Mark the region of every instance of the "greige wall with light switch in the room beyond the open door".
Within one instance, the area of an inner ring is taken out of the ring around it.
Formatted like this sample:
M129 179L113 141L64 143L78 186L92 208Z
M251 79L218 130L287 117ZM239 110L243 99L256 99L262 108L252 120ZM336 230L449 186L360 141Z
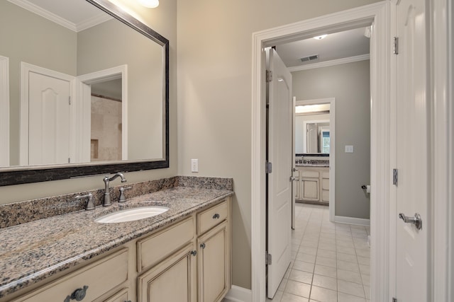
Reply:
M369 74L369 60L292 73L297 100L336 98L336 216L370 217Z

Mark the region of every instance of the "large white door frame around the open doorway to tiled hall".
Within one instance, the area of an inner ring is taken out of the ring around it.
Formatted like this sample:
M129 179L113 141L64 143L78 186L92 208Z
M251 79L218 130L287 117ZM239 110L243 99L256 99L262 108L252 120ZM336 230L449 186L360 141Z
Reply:
M389 59L390 4L376 4L253 33L251 146L252 301L265 301L265 62L263 47L284 41L372 26L371 63L371 291L375 301L389 301Z

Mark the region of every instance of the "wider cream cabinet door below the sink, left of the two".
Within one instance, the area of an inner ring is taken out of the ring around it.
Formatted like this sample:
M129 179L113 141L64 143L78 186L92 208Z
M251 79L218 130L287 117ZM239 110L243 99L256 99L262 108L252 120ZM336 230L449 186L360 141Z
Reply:
M195 302L196 257L193 244L138 277L138 302Z

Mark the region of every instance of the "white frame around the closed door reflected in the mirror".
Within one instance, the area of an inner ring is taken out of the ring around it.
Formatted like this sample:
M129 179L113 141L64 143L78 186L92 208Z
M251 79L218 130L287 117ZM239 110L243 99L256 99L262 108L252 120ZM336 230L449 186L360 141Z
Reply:
M26 62L21 62L21 110L20 110L20 139L19 139L19 165L28 165L28 90L29 74L34 72L43 76L50 76L55 79L70 82L70 98L74 99L75 80L74 76L62 74L61 72L36 66ZM77 125L75 124L76 110L70 106L70 158L75 158L74 141Z

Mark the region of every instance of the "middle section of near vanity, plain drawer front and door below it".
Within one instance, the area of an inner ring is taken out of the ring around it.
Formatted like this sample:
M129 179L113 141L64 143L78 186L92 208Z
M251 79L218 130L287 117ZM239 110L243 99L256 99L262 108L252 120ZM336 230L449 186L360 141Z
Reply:
M138 240L138 302L196 301L194 220Z

